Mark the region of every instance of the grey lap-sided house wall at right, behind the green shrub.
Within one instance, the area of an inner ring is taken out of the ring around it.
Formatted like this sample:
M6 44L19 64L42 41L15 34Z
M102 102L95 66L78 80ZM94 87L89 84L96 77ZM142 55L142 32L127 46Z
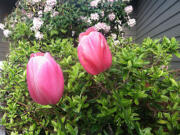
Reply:
M146 37L175 37L180 41L180 0L137 0L136 42ZM180 68L174 56L171 68Z

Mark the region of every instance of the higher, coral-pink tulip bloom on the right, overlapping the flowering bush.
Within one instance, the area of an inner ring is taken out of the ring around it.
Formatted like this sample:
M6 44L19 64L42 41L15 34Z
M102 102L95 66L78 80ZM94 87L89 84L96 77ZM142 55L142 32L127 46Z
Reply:
M107 41L94 27L80 34L78 57L84 69L92 75L104 72L112 64L111 51Z

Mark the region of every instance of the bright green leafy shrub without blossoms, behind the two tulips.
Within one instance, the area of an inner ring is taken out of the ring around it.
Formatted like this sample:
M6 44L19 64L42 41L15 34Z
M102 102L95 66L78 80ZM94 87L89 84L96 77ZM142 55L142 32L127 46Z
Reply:
M134 44L119 39L112 67L91 76L80 65L71 39L49 44L18 41L11 45L0 78L2 124L17 135L177 135L180 133L180 83L167 70L178 43L172 38ZM64 95L56 106L29 96L26 64L31 53L50 52L60 64Z

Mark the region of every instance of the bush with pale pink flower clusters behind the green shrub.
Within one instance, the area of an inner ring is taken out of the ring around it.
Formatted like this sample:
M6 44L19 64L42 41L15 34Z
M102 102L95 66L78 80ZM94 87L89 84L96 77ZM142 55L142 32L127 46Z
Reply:
M133 8L128 5L122 0L19 0L0 29L13 40L73 38L76 42L90 26L106 36L122 35L122 27L136 23L130 18Z

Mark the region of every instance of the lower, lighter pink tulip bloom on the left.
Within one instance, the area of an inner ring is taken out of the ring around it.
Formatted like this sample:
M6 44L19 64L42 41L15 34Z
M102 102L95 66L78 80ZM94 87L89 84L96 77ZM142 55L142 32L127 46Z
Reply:
M49 53L31 54L27 64L27 84L35 102L42 105L58 103L64 92L64 77Z

